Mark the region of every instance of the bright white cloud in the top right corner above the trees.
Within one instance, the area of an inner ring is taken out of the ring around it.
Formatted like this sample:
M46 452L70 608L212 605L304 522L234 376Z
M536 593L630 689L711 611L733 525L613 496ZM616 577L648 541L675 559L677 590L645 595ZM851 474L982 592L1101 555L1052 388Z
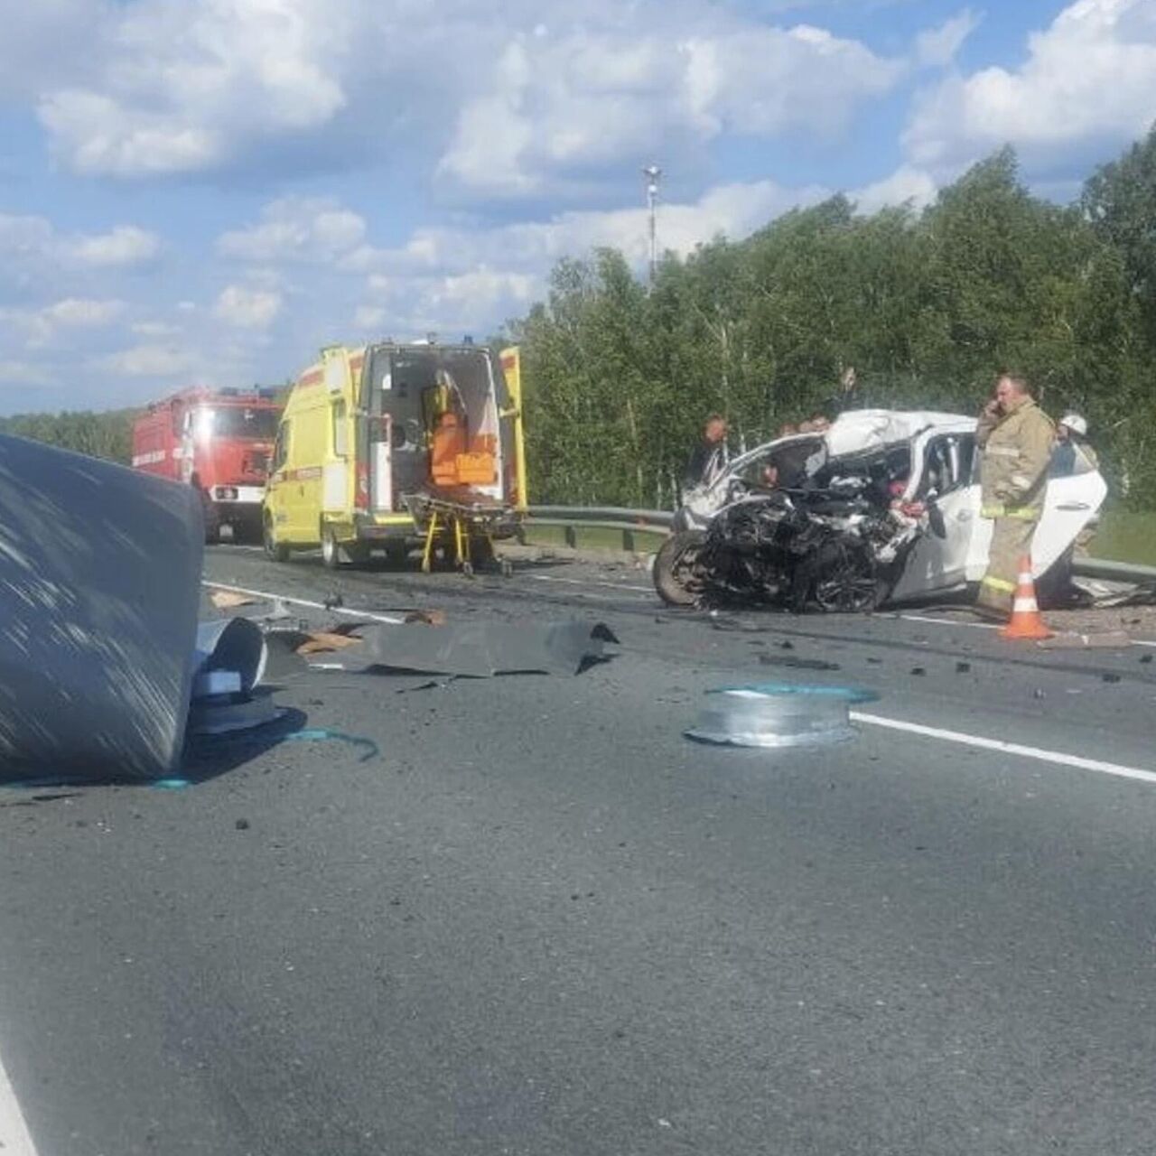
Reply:
M1156 118L1156 5L1077 0L1028 42L1017 69L954 76L919 102L910 158L951 171L1010 142L1029 165L1070 163L1141 135Z

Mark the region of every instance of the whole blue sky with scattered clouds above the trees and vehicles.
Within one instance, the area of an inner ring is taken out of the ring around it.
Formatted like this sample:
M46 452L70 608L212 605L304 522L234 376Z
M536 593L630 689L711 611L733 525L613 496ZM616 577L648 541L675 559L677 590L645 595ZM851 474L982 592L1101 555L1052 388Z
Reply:
M0 414L484 335L561 255L1042 194L1156 120L1156 0L0 0Z

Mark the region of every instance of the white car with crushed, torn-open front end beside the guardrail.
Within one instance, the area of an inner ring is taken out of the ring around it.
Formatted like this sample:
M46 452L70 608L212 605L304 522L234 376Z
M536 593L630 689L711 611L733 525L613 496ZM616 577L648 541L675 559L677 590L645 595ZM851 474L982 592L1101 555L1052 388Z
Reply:
M1048 481L1037 577L1107 494L1097 470ZM728 601L861 612L978 583L993 524L979 517L976 418L864 409L823 433L761 445L687 497L654 560L672 606Z

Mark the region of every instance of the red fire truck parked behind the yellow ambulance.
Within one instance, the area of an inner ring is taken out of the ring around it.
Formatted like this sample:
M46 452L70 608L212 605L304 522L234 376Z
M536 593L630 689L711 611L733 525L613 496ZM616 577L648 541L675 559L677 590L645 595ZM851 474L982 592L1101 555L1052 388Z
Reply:
M216 541L222 526L234 538L260 536L277 392L181 390L136 418L133 466L201 491L206 541Z

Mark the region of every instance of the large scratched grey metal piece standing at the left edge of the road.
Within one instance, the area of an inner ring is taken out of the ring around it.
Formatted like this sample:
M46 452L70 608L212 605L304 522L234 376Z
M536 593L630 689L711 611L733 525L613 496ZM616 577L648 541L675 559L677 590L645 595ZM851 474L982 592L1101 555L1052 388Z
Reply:
M0 435L0 777L170 773L195 668L197 492Z

